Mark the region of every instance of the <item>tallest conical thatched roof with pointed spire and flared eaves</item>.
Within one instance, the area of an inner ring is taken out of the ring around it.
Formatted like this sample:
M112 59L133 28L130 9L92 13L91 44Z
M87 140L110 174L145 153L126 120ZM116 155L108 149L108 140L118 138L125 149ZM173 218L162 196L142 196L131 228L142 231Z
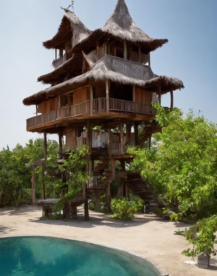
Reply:
M149 51L154 51L168 42L168 39L153 39L145 34L133 21L124 0L118 0L113 14L108 18L105 26L93 31L78 43L73 51L83 50L88 53L96 47L96 40L101 38L103 34L126 40L128 43L141 45Z

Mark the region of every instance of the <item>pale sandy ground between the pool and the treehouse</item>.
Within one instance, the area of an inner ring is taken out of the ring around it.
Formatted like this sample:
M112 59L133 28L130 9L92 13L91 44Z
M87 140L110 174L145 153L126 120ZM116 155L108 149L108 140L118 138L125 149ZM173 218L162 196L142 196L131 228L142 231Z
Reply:
M31 234L88 241L142 255L158 265L163 275L217 275L216 258L211 258L212 266L208 270L184 263L191 260L181 254L188 242L185 237L174 235L174 231L184 230L187 224L143 214L131 221L121 221L92 211L89 212L90 220L84 221L83 211L80 207L77 221L41 221L41 207L0 209L0 237Z

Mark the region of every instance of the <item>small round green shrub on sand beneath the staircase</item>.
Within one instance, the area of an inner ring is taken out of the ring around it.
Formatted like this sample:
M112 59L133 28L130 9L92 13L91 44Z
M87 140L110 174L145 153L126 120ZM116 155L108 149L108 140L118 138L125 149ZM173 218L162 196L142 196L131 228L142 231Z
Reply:
M135 206L131 202L126 201L125 197L122 199L113 199L111 209L114 212L112 217L124 220L131 219L136 212Z

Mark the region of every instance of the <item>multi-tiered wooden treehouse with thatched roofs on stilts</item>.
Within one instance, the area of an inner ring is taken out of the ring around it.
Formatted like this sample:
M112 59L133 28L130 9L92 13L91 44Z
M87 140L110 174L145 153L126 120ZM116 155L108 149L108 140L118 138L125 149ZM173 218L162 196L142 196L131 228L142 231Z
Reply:
M88 219L88 199L93 192L98 206L100 191L105 191L109 210L114 179L119 179L119 196L128 199L132 189L144 202L161 205L138 173L125 170L125 162L131 160L125 148L150 142L151 135L160 131L151 103L161 104L162 95L170 92L173 108L173 91L184 87L181 80L155 75L150 67L150 53L168 39L145 34L124 0L118 0L105 26L94 31L70 10L64 12L57 34L43 43L45 48L55 49L54 70L38 81L51 87L23 100L24 105L36 106L36 116L27 119L27 131L44 133L45 148L47 133L59 135L60 163L66 156L62 136L67 152L83 144L90 148L92 165L87 170L93 172L93 178L65 205L64 217L76 218L77 206L84 203ZM140 140L138 125L146 126ZM101 128L96 130L96 126ZM95 160L99 161L96 166ZM116 160L122 171L115 170Z

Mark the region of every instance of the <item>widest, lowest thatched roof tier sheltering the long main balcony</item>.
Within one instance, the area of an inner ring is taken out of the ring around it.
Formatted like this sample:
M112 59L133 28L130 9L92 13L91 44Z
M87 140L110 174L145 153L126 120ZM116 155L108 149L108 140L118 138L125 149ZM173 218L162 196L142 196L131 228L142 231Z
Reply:
M170 91L170 88L173 90L184 88L180 79L155 75L147 65L105 55L85 74L29 96L23 100L23 104L32 105L49 96L68 93L88 83L104 82L106 79L123 85L135 85L154 92L158 91L158 85L161 84L162 94Z

